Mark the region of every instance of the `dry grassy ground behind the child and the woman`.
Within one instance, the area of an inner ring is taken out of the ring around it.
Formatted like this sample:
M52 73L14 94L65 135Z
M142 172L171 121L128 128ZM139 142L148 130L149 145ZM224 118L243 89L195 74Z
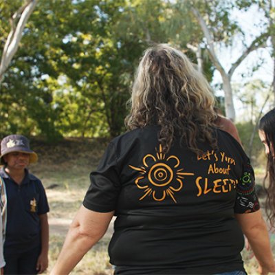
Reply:
M39 162L30 166L34 175L43 181L50 203L49 218L73 219L81 206L89 187L89 173L96 169L107 140L67 140L56 145L34 142L33 149L39 154ZM256 181L261 184L265 168L256 167ZM55 186L51 188L51 186ZM106 234L92 248L71 274L111 275L107 246L111 238ZM49 274L63 246L65 234L51 234ZM272 250L275 252L275 235L271 236ZM243 250L243 260L248 274L258 274L256 259L250 251Z

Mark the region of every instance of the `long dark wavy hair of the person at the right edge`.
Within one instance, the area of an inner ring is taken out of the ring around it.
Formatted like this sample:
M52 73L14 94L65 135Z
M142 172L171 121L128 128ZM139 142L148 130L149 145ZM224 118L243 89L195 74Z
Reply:
M267 189L265 211L271 225L275 228L275 108L261 118L259 130L265 135L265 144L268 147L267 169L264 185ZM268 177L268 185L266 179Z

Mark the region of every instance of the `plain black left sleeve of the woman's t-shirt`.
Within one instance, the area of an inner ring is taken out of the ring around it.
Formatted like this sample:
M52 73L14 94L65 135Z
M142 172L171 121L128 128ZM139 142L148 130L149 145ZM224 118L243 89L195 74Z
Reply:
M107 147L98 168L90 174L91 184L85 195L83 206L96 212L115 210L120 191L118 160L115 145Z

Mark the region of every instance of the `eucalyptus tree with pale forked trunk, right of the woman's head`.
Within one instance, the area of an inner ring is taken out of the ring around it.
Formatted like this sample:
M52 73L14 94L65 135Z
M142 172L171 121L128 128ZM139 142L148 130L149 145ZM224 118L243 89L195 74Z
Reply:
M234 120L235 109L232 98L232 75L250 52L265 46L267 32L263 31L261 35L255 37L250 45L244 45L243 52L236 57L235 61L232 61L230 69L225 69L225 66L222 65L218 57L217 47L233 48L235 39L244 40L245 35L237 21L232 19L231 16L237 7L236 1L178 0L174 2L175 8L180 10L181 16L185 19L182 28L190 32L189 47L195 49L195 52L197 51L197 57L201 56L199 54L200 50L205 49L212 64L221 74L225 94L225 113L228 118Z

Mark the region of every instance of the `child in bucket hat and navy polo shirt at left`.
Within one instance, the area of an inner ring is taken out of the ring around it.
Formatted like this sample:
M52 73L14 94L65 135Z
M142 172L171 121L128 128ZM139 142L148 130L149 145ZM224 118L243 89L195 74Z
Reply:
M49 206L40 179L27 169L37 155L26 137L8 135L0 161L4 274L41 274L48 265Z

